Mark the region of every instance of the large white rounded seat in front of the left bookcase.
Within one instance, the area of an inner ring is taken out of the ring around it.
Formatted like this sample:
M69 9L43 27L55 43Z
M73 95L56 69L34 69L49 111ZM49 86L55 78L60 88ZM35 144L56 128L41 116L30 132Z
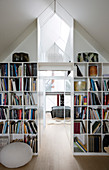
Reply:
M27 164L33 156L29 145L22 142L10 143L0 152L0 162L7 168L18 168Z

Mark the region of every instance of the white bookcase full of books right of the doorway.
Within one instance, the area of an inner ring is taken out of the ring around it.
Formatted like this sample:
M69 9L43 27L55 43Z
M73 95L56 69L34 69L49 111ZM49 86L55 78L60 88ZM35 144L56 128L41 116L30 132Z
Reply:
M104 151L109 145L108 67L102 62L74 63L74 155L109 155Z

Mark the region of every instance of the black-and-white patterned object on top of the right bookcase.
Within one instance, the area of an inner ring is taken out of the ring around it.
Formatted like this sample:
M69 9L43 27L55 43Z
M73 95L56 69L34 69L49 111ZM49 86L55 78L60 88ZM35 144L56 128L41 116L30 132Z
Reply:
M93 52L78 53L78 62L98 62L98 54Z

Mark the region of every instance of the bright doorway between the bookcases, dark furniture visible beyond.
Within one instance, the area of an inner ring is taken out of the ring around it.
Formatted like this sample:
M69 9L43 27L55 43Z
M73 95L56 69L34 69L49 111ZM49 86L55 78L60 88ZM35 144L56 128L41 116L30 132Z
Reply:
M71 139L71 115L72 115L72 71L47 70L43 67L39 77L42 82L42 122L46 125L63 125L66 129L69 141ZM53 68L53 67L52 67ZM67 68L68 69L68 68ZM41 86L41 85L40 85Z

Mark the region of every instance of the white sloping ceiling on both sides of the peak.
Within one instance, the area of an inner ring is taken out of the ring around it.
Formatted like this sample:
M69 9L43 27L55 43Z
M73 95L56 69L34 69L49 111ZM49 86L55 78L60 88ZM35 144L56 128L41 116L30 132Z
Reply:
M0 0L0 55L52 0ZM109 0L58 0L109 53Z

